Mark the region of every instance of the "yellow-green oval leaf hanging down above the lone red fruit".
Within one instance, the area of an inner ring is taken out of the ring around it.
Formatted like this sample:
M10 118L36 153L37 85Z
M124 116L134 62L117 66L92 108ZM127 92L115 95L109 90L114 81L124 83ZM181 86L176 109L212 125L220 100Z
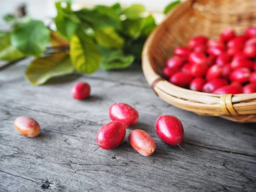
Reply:
M98 70L101 61L96 45L85 33L78 33L71 37L70 58L76 70L85 73Z

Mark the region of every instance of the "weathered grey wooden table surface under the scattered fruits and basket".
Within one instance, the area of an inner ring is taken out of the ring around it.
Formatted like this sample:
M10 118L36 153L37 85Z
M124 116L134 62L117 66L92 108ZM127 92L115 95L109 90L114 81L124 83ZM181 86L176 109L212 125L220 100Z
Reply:
M33 86L24 78L29 60L0 72L0 191L256 191L256 124L198 116L175 108L151 90L140 65L120 71L71 75ZM91 85L91 96L73 99L78 81ZM134 106L137 125L128 128L114 150L96 143L99 128L109 122L115 102ZM182 147L163 143L154 131L158 116L170 114L183 123ZM41 125L35 138L13 126L18 116ZM132 129L147 131L156 142L150 157L128 143Z

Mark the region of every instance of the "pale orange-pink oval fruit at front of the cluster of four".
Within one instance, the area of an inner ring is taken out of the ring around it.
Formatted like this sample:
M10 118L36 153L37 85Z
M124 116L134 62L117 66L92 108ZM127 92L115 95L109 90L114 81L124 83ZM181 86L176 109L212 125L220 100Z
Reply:
M153 138L145 131L135 129L129 134L131 146L140 154L150 156L156 150Z

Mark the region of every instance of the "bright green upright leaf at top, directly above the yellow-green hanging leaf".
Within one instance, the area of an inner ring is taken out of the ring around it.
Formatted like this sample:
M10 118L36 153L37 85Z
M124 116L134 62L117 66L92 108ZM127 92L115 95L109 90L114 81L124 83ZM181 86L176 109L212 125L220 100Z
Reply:
M70 3L67 3L67 7L63 8L61 6L61 2L57 2L55 3L55 7L58 12L55 17L57 30L64 35L65 38L70 39L70 37L75 33L80 20L72 12Z

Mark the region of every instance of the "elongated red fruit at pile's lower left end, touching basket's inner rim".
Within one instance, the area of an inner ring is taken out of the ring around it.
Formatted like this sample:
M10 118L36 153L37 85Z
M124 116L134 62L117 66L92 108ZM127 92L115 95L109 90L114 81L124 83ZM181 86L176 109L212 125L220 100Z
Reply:
M193 79L193 76L190 73L185 73L185 72L178 72L175 73L171 78L170 82L172 84L175 84L180 87L185 87L188 85Z

